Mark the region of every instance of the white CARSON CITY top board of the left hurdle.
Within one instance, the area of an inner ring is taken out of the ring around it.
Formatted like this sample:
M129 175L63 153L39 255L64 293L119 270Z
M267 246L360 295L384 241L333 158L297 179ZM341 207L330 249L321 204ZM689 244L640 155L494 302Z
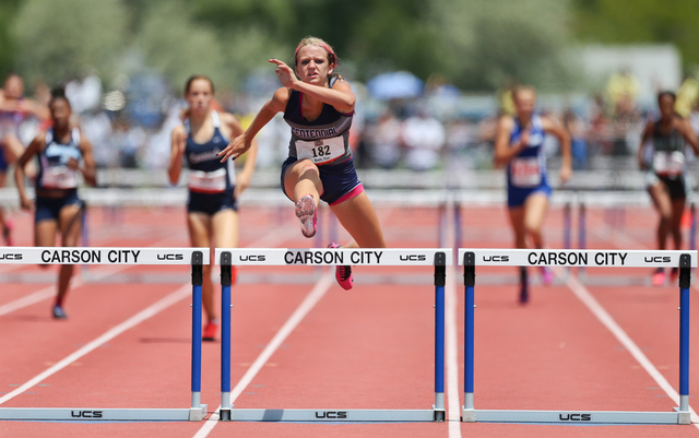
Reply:
M194 251L201 251L202 264L211 262L209 248L2 247L0 263L191 264Z

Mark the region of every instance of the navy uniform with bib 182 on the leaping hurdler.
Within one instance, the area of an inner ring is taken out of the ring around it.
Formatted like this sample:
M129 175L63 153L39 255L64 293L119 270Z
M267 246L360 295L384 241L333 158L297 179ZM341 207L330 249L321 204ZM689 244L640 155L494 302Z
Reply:
M332 78L329 87L337 79ZM350 149L350 127L354 111L343 114L332 105L323 104L323 109L315 120L307 120L303 114L304 94L292 90L284 120L292 127L288 158L282 165L282 190L286 169L299 159L310 159L318 166L323 192L320 199L329 204L337 204L364 191L357 178ZM287 198L289 193L285 193ZM292 193L293 194L293 193Z

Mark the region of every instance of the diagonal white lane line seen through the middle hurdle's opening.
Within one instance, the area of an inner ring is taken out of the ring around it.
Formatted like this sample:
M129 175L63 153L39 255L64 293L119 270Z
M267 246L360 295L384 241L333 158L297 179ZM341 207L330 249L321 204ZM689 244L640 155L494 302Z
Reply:
M272 338L272 341L264 347L262 353L254 359L252 366L248 368L248 371L242 376L242 378L235 386L233 391L230 391L230 404L235 402L235 400L242 393L242 391L250 384L252 379L257 376L257 374L262 369L264 364L269 360L270 357L276 352L276 350L284 343L286 338L296 329L296 327L301 322L301 320L308 315L308 312L316 306L316 304L320 300L320 298L325 295L325 292L330 288L333 282L333 275L330 271L325 271L323 275L318 280L316 286L312 291L306 296L304 301L296 308L294 313L286 320L284 325L280 329L279 332ZM204 425L194 434L194 438L205 438L209 436L211 430L216 426L220 419L221 405L216 409L216 412L211 414L209 419L204 422Z

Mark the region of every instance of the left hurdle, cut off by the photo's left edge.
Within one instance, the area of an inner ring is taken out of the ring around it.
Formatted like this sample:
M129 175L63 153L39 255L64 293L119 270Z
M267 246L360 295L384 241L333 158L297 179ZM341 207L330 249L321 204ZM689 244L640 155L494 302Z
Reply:
M1 262L12 264L190 264L192 271L192 353L191 407L189 409L0 407L0 419L199 422L204 418L206 405L201 404L201 299L203 264L211 262L209 248L8 247L2 252Z

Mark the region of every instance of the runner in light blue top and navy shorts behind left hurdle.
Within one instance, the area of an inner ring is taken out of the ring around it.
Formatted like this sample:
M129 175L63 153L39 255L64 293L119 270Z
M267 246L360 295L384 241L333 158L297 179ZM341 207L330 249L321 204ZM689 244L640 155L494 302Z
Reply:
M92 144L81 135L80 129L70 122L71 108L62 90L55 91L49 102L52 127L37 135L24 151L14 169L14 181L20 192L23 210L34 211L34 239L37 247L56 245L56 233L61 234L61 246L78 246L82 229L83 202L78 197L81 176L95 185L95 161ZM24 187L24 168L38 156L36 201L32 202ZM44 265L48 267L48 265ZM72 264L61 264L58 275L58 294L52 307L54 318L64 319L63 304Z

